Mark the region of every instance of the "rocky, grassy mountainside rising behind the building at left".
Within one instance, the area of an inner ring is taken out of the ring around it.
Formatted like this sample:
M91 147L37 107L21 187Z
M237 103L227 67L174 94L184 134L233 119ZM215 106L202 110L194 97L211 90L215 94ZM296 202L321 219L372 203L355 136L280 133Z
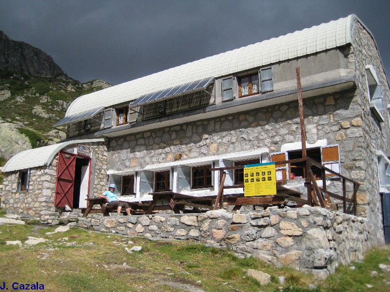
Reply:
M0 158L59 142L65 128L53 129L78 96L111 84L68 77L52 57L0 32Z

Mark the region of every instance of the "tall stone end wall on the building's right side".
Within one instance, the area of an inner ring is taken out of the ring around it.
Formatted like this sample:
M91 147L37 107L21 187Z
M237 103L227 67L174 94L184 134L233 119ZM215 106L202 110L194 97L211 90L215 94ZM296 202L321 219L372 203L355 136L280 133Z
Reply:
M358 206L358 212L370 219L374 230L376 230L373 236L377 237L379 242L383 242L382 207L375 150L382 150L386 154L389 149L390 124L387 110L387 105L390 104L389 83L373 38L357 21L353 30L352 49L353 52L351 55L353 55L358 80L356 91L358 103L361 105L362 120L364 121L361 130L365 145L364 151L356 154L361 156L358 163L362 165L364 170L355 177L365 183L359 190L367 194L365 197L360 197L360 203L363 204ZM366 65L372 65L374 67L382 86L382 96L385 105L385 110L381 111L385 120L383 123L377 121L369 107Z

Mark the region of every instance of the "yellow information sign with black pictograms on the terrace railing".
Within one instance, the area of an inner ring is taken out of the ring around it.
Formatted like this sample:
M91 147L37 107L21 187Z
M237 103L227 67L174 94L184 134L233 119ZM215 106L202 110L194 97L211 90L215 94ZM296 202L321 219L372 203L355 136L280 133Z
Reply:
M244 197L276 195L275 163L244 166Z

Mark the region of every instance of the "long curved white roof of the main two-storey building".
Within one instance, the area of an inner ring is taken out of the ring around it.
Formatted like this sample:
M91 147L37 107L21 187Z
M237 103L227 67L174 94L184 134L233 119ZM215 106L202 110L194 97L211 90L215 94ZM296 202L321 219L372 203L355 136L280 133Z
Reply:
M65 116L128 102L194 80L229 75L351 43L355 18L350 15L82 95L72 102Z

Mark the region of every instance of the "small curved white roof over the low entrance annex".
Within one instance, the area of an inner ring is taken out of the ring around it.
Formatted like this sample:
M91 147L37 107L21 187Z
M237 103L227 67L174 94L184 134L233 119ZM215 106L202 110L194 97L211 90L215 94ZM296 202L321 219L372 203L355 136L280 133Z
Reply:
M59 152L59 150L72 144L91 143L91 142L103 142L104 139L88 139L88 140L74 140L54 144L50 146L44 146L29 150L24 150L15 156L13 156L4 165L2 172L10 172L21 169L28 169L43 165L49 165L53 160L53 157Z

